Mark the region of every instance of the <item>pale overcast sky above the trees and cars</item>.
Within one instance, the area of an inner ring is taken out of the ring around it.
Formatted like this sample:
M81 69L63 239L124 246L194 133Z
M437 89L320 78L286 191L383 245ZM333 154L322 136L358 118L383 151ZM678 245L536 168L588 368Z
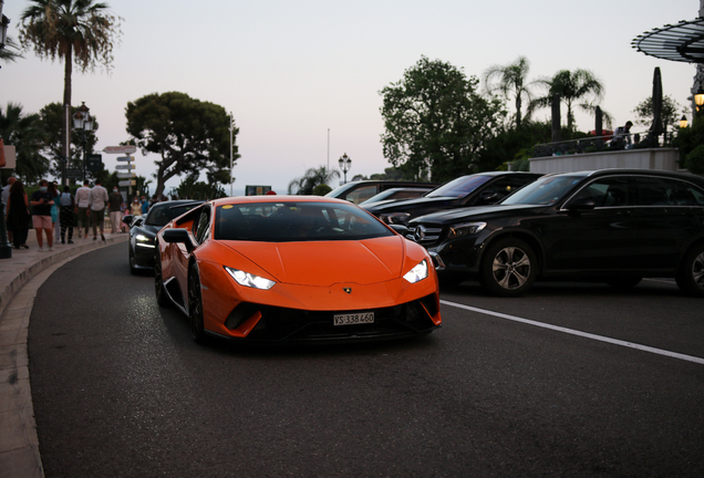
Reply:
M82 74L74 67L73 74L74 106L85 102L101 124L96 149L128 139L127 102L184 92L232 112L241 154L235 194L246 185L284 193L307 168L327 165L328 158L337 167L343 153L352 159L349 178L383 173L390 165L380 143L379 91L400 81L422 55L476 76L519 55L530 61L529 79L590 70L605 86L602 108L620 125L651 95L660 66L664 94L689 105L694 65L646 56L631 41L692 20L700 7L697 0L106 2L124 19L113 72ZM14 39L28 6L4 2ZM62 97L62 63L40 61L31 51L2 63L3 108L13 102L33 113ZM543 110L537 117L548 115ZM577 123L593 129L590 116L578 113ZM103 155L110 170L115 157ZM137 153L136 173L151 178L154 159ZM172 179L167 191L179 183Z

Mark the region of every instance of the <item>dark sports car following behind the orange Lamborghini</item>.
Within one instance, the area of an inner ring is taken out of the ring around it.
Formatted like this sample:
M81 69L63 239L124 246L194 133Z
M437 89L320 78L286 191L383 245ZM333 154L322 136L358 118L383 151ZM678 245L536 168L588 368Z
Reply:
M156 233L172 219L203 204L194 200L157 202L146 216L125 216L122 221L130 226L130 271L154 269L154 239Z

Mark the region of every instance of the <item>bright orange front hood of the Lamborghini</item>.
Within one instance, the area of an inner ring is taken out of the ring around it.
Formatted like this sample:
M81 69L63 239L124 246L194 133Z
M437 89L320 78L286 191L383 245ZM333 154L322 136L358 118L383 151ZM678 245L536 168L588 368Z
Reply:
M280 282L330 287L397 279L404 264L403 241L401 236L392 236L359 241L222 243Z

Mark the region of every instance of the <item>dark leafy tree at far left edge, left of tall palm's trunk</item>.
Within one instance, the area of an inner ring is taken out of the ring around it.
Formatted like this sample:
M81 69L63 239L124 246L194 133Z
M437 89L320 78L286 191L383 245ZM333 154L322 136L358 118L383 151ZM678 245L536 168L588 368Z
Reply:
M0 107L0 135L6 145L15 148L14 173L27 184L34 184L49 172L49 159L42 156L44 128L39 114L23 114L22 105L8 103Z

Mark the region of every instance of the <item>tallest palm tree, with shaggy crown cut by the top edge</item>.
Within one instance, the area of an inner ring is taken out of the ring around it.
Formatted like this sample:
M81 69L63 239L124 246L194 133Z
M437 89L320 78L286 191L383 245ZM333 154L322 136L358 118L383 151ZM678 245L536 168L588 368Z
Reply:
M122 19L108 13L107 3L93 0L30 0L30 3L22 13L20 43L25 50L33 46L42 59L54 61L58 56L64 61L63 104L70 105L73 63L82 72L93 71L97 64L110 72L113 45L122 34ZM63 137L66 152L65 132Z

